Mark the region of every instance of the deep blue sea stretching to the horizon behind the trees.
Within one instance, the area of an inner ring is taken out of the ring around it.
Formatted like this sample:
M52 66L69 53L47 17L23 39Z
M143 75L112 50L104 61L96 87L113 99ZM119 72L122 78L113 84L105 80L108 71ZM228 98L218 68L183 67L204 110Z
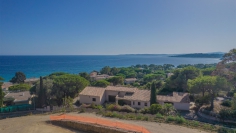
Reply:
M104 66L128 67L136 64L210 64L215 58L178 58L169 55L76 55L76 56L0 56L0 76L9 81L21 71L27 78L46 76L53 72L78 74L100 70Z

